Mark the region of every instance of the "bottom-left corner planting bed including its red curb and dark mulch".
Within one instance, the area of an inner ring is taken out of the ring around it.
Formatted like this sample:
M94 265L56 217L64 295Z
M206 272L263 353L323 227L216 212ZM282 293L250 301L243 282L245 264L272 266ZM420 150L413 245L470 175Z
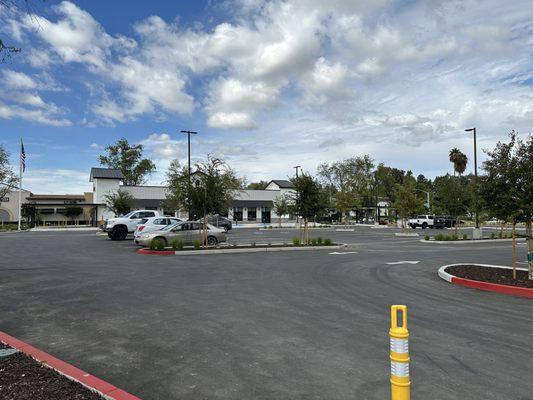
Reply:
M140 400L1 331L0 398Z

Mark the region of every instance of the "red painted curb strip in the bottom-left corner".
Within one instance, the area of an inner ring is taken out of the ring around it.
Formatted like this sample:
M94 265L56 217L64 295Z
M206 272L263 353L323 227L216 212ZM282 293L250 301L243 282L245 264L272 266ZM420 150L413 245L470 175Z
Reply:
M141 400L139 397L129 394L124 390L119 389L116 386L101 380L100 378L97 378L94 375L82 371L81 369L76 368L69 363L61 361L60 359L55 358L33 346L30 346L29 344L24 343L22 340L10 336L2 331L0 331L0 341L13 347L14 349L20 350L30 357L35 358L37 361L48 365L50 368L55 369L60 374L65 375L74 381L80 382L81 384L100 393L102 396L110 400Z

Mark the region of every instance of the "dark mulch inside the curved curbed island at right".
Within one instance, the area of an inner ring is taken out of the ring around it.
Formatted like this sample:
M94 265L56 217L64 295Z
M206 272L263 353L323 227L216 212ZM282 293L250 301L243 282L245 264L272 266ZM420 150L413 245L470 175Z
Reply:
M528 279L527 271L517 270L517 279L513 279L512 269L480 267L479 265L455 265L446 268L446 272L458 278L473 281L533 289L533 281Z

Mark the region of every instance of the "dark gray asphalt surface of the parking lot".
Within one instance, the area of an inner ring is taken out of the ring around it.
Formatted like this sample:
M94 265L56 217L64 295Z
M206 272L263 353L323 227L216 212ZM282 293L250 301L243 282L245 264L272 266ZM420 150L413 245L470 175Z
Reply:
M413 398L532 399L533 302L437 276L509 265L510 243L395 231L312 232L343 251L180 257L89 232L0 234L0 330L145 400L377 400L389 397L389 307L407 304Z

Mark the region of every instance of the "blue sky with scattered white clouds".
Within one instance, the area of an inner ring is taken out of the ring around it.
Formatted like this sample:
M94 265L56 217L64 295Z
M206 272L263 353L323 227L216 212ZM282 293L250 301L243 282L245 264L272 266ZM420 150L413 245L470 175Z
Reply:
M214 154L249 182L369 154L452 172L511 130L533 131L530 0L32 1L0 6L0 144L34 193L91 190L98 155L140 143ZM472 169L470 163L467 171Z

